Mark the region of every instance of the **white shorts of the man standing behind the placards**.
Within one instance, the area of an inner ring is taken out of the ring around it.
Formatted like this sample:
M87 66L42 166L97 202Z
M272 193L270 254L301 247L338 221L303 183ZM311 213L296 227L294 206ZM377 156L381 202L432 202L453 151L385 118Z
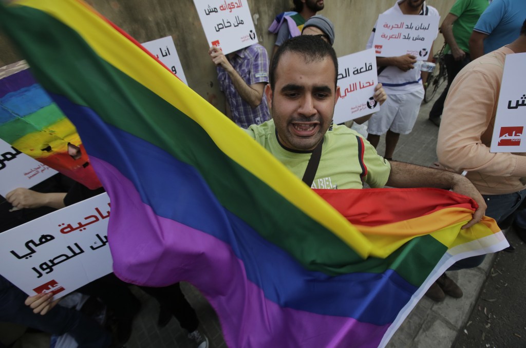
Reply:
M380 111L372 114L367 132L382 135L388 130L399 134L409 134L417 121L420 104L424 98L424 90L391 94L380 106Z

